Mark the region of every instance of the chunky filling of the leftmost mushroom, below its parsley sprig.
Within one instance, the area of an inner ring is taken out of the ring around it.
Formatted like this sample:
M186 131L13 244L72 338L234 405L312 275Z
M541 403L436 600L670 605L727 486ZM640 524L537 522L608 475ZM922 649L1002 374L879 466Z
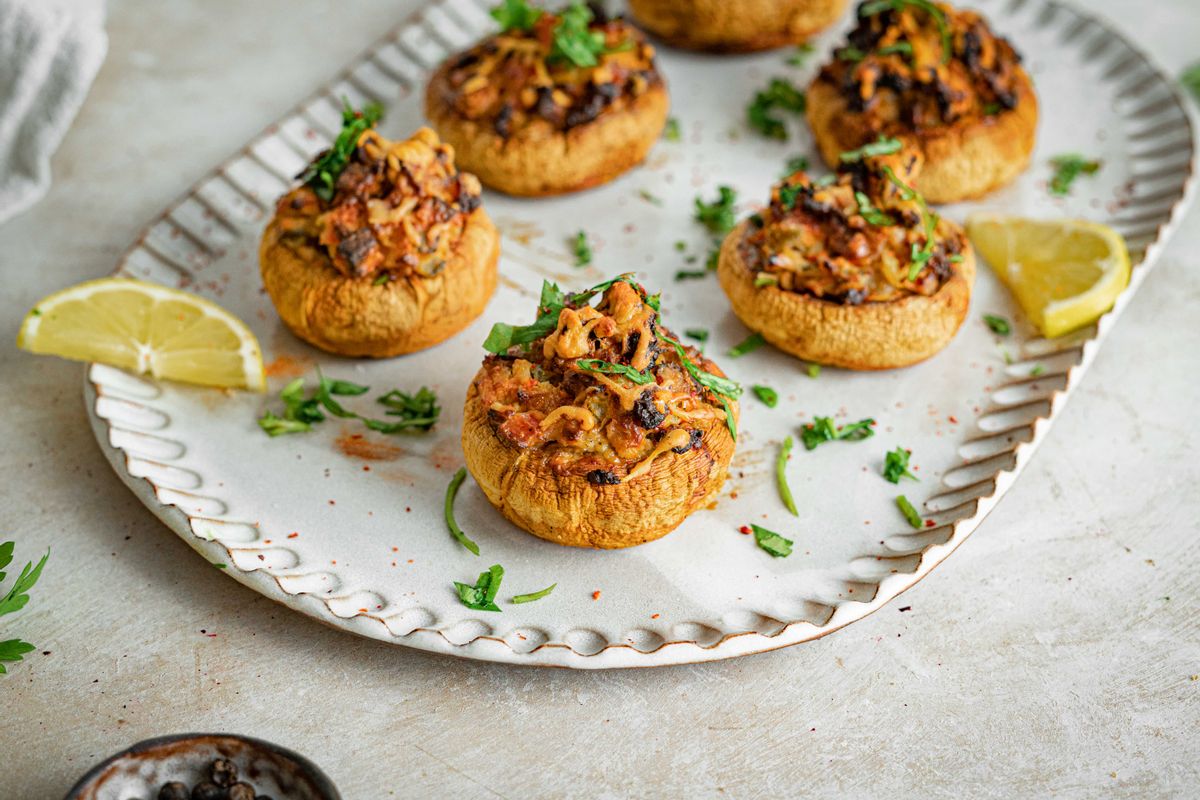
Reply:
M433 131L390 142L366 130L329 199L312 185L300 186L280 199L276 218L284 243L319 248L340 273L382 283L437 275L462 240L479 196L479 180L455 168L452 148Z

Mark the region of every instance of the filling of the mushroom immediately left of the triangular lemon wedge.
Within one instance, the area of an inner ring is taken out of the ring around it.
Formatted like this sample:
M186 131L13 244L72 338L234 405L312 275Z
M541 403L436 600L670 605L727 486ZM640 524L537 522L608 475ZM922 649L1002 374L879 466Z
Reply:
M961 230L929 210L907 179L919 157L901 151L844 154L839 174L797 172L772 190L739 243L758 287L845 305L935 294L962 260Z

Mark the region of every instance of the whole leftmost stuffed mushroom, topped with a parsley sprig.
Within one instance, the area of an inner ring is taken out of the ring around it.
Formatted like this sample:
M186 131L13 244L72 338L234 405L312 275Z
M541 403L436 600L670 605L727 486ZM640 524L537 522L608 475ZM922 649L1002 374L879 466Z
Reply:
M283 324L348 356L432 347L479 317L500 240L474 175L433 131L389 142L346 109L334 146L280 199L259 247Z

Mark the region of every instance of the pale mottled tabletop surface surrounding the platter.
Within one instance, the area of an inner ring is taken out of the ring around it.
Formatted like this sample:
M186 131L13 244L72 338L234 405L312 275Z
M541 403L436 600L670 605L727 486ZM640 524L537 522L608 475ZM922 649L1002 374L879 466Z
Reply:
M168 201L416 5L114 2L54 188L0 227L4 337L40 296L109 272ZM1139 16L1132 35L1170 73L1200 56L1189 0ZM956 554L832 637L702 667L480 664L287 612L120 485L78 365L5 344L0 537L20 560L53 553L30 607L0 621L38 645L0 678L0 795L56 798L132 741L222 729L308 754L349 799L1195 796L1198 221Z

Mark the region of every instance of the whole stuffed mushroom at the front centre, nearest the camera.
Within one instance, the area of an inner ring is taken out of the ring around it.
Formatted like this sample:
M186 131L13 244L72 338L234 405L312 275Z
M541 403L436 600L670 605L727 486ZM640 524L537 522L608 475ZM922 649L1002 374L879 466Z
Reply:
M589 301L602 295L592 306ZM586 291L542 287L532 325L492 329L467 392L467 469L534 536L641 545L721 488L742 392L659 321L630 276Z

